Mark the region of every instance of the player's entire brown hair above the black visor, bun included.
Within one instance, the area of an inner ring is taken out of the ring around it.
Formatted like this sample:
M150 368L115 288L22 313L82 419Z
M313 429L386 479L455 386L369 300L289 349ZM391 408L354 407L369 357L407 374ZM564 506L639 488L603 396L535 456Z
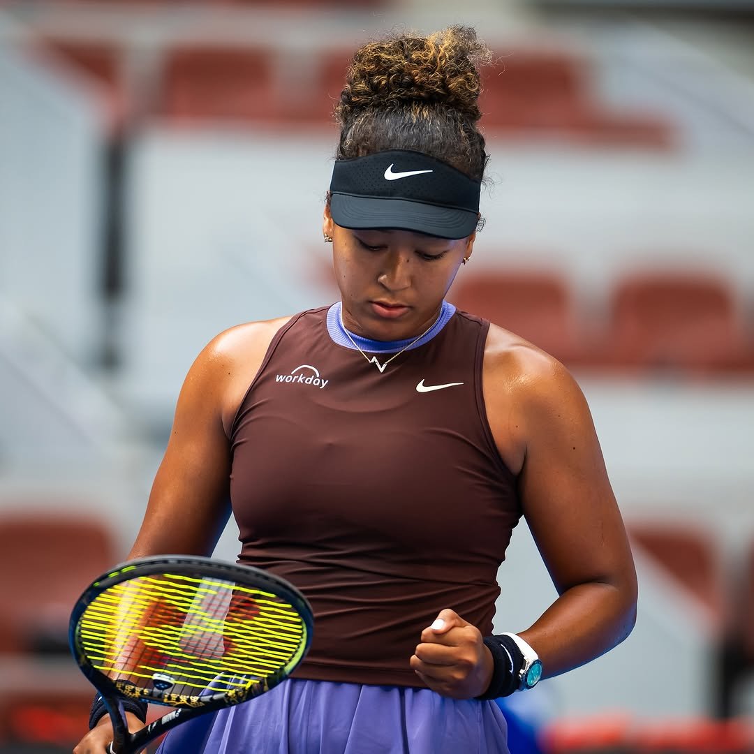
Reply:
M482 180L489 156L477 129L482 115L477 66L491 57L466 26L364 44L348 67L336 106L336 159L413 149Z

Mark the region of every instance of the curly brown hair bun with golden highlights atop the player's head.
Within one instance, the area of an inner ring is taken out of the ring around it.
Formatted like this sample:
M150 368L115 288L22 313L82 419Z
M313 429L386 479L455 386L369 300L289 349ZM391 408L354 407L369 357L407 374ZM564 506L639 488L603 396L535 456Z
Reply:
M348 68L336 116L344 124L366 108L446 106L476 123L481 117L478 66L491 57L477 32L467 26L369 42Z

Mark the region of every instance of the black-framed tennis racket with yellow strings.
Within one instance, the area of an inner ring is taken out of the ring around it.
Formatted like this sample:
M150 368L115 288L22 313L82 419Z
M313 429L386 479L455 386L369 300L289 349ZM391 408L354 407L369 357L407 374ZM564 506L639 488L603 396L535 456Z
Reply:
M71 614L69 643L112 719L111 754L136 754L170 728L265 693L311 643L305 597L250 566L166 555L115 566ZM121 700L173 710L128 732Z

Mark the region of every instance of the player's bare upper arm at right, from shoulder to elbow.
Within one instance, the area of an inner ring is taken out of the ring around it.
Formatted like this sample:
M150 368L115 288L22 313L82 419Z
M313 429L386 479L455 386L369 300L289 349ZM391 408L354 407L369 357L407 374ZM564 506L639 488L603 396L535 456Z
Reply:
M633 599L633 557L584 394L537 349L516 348L501 361L492 405L506 416L493 418L493 434L516 458L523 515L553 584L563 593L599 581Z

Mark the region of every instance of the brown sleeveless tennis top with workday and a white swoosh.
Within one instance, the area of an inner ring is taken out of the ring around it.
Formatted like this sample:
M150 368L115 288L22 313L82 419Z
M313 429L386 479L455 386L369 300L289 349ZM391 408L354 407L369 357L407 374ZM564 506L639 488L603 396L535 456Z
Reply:
M409 658L441 609L492 633L520 517L484 409L489 323L455 312L381 373L333 339L327 314L278 331L235 417L239 560L314 608L295 676L421 687Z

